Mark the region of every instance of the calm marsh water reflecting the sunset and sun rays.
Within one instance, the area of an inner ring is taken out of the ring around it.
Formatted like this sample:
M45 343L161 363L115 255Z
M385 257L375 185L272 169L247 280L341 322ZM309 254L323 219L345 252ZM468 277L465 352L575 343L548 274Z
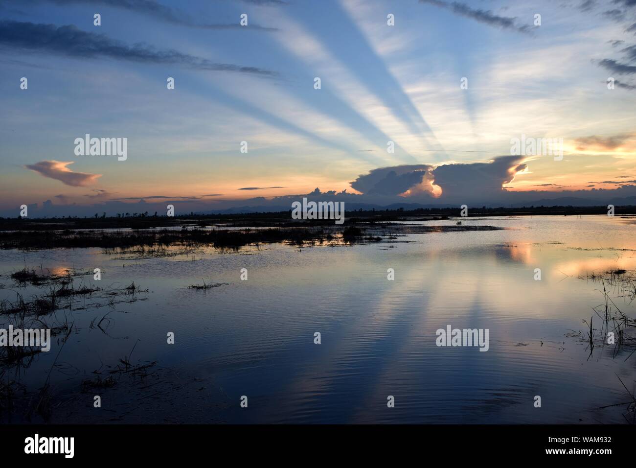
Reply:
M593 307L605 302L592 273L635 271L635 221L467 218L465 225L504 229L169 257L5 250L1 299L41 294L10 279L24 267L100 268L100 281L92 274L81 281L140 288L125 301L75 297L52 315L73 323L66 343L58 339L50 352L6 372L28 390L50 375L52 422L625 423L625 406L610 405L630 401L621 380L633 391L636 354L602 339L591 350L583 320L593 316L600 326ZM188 288L203 283L217 286ZM606 287L634 318L636 301ZM0 327L7 320L0 316ZM436 330L447 325L488 329L488 351L436 346ZM116 374L112 387L80 391L82 381L105 377L125 357L156 361L154 380ZM94 395L101 408L93 408Z

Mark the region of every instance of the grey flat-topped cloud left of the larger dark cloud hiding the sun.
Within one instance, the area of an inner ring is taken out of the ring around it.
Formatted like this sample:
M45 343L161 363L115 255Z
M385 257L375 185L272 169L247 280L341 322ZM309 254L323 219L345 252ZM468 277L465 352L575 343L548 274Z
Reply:
M380 167L361 174L350 185L358 192L370 195L399 195L420 185L433 167L427 164ZM432 188L431 188L432 190Z

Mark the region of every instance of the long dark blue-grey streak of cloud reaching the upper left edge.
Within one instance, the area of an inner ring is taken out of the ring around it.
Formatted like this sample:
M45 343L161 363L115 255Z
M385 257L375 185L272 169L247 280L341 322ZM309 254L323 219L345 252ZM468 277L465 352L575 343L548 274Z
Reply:
M212 62L202 57L176 50L156 50L145 44L128 46L104 34L85 32L74 25L57 27L54 24L0 21L0 44L25 50L39 50L71 57L109 57L146 64L177 64L198 70L234 71L264 76L277 73L258 67Z

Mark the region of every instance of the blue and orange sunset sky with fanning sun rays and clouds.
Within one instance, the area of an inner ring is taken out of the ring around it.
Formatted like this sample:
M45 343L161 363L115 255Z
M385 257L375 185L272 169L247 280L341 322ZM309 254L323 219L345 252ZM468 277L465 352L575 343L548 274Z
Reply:
M621 200L635 75L635 0L0 0L0 216Z

